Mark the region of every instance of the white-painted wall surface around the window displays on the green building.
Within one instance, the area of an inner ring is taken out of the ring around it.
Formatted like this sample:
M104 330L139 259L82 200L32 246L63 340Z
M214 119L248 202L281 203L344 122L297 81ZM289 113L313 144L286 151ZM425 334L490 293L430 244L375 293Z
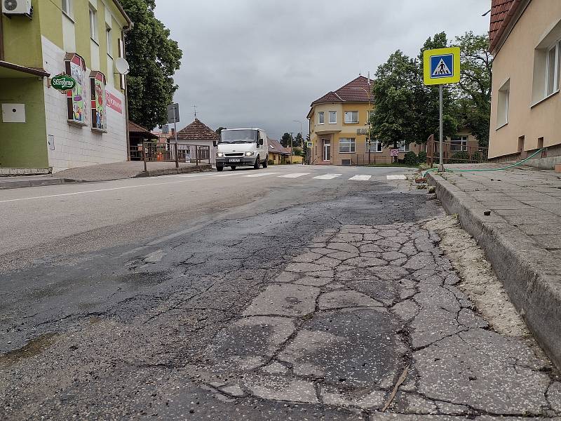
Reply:
M64 72L65 51L44 36L42 43L44 69L51 75ZM86 76L89 74L90 69L86 69ZM83 127L67 122L66 96L48 85L45 86L47 137L48 135L55 137L55 150L48 150L49 166L53 167L53 172L78 166L127 160L125 98L111 86L107 85L106 88L123 102L123 113L119 114L107 107L107 133L97 133L91 129L89 83L86 86L88 126Z

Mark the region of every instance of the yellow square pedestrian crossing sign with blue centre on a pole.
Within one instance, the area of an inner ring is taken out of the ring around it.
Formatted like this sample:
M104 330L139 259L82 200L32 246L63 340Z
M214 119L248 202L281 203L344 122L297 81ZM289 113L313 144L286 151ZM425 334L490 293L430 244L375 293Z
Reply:
M460 81L460 48L438 48L423 53L425 85L443 85Z

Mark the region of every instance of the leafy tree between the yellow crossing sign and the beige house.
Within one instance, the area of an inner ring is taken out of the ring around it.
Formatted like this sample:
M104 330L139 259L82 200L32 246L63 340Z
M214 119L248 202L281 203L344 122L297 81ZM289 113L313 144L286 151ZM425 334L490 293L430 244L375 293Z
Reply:
M493 62L488 51L489 36L466 32L456 38L455 44L461 51L461 79L457 84L459 112L479 146L488 147Z

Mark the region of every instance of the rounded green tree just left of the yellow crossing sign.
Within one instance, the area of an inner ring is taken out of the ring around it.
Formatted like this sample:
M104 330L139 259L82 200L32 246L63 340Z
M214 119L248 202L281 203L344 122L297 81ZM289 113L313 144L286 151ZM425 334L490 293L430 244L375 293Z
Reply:
M388 61L378 67L372 84L372 138L394 148L404 140L419 139L422 89L417 60L399 50L390 55Z

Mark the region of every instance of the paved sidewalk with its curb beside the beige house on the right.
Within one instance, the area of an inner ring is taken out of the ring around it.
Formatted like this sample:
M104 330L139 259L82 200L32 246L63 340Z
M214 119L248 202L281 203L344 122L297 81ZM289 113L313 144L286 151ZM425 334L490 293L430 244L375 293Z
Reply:
M458 214L485 250L530 330L561 367L561 175L520 167L427 177L442 205Z

